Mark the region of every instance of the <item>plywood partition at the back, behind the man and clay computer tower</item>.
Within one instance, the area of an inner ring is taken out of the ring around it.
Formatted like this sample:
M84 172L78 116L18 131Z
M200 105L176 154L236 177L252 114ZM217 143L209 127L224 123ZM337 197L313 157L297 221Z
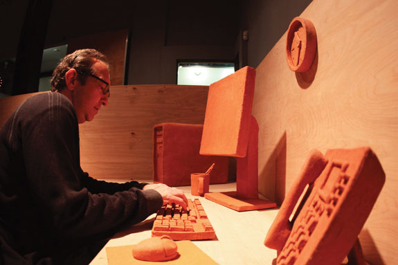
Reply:
M80 125L81 165L96 179L152 180L152 128L203 124L208 86L112 86L109 105Z

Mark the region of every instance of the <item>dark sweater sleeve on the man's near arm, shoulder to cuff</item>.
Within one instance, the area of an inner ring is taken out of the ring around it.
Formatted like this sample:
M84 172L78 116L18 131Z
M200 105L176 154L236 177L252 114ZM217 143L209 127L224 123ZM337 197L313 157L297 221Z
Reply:
M63 95L51 94L48 107L36 110L19 126L23 127L27 184L43 221L55 235L63 239L98 236L143 221L159 210L163 200L155 190L132 187L109 194L84 187L75 111L69 100L60 100Z

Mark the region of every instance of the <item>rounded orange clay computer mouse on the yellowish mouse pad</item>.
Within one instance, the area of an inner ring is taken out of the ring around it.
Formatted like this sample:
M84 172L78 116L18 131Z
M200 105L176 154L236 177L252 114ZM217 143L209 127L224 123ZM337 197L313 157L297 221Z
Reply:
M135 259L148 262L163 262L177 257L177 244L167 235L144 239L133 246Z

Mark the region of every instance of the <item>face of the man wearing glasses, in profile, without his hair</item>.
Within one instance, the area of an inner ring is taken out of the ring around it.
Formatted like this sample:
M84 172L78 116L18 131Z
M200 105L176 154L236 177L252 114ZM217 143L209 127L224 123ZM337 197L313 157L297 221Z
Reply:
M93 74L96 75L96 77L110 84L109 71L103 62L96 60L92 68ZM107 89L106 86L107 84L91 75L87 75L84 85L79 82L78 87L76 87L72 94L72 102L75 106L79 123L93 120L94 116L100 111L102 105L108 105L109 92L105 95L103 93L103 91Z

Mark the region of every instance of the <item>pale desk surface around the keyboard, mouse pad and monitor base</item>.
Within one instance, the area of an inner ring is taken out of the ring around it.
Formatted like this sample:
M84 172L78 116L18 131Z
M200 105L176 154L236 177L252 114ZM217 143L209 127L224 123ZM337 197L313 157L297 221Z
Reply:
M235 190L235 183L210 185L210 192ZM179 187L188 199L198 198L205 209L208 219L216 232L215 239L192 241L204 253L218 264L272 264L276 251L264 246L266 232L269 230L278 210L254 210L236 212L203 197L192 196L190 187ZM151 237L152 224L156 214L145 221L118 232L90 263L107 265L109 246L138 244Z

